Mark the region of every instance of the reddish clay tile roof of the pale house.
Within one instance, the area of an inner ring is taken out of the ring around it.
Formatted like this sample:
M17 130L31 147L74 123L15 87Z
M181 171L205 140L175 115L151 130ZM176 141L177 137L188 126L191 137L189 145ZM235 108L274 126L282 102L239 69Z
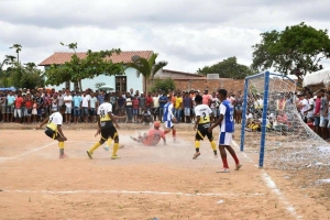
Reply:
M85 52L78 52L76 54L79 58L86 57ZM120 54L112 54L109 57L109 59L111 59L113 63L128 64L128 63L132 63L131 57L134 55L138 55L143 58L150 58L152 54L153 54L152 51L121 52ZM74 53L55 52L48 58L40 63L38 66L50 66L52 64L64 64L65 62L69 62L73 55Z

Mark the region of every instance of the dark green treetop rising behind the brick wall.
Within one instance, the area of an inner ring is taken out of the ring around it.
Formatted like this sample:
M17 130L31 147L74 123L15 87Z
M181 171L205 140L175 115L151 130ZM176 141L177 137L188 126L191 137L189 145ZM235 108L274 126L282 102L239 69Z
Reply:
M253 72L245 65L238 64L235 56L229 57L212 66L205 66L197 70L200 75L219 74L221 78L243 79L253 75Z

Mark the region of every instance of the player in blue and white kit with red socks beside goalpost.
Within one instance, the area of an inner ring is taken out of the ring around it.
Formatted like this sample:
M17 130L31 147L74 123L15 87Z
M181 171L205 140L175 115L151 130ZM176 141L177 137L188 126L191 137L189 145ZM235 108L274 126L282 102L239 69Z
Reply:
M227 162L227 153L226 148L229 151L231 156L234 158L237 168L235 170L239 170L241 168L240 161L234 152L234 150L230 146L230 143L232 141L233 132L234 132L234 121L233 121L233 106L230 103L230 101L227 100L227 90L226 89L219 89L218 96L221 101L221 105L219 107L220 109L220 118L218 121L212 124L208 131L211 132L216 127L220 124L220 134L219 134L219 151L223 163L223 168L221 170L218 170L217 173L229 173L229 166Z

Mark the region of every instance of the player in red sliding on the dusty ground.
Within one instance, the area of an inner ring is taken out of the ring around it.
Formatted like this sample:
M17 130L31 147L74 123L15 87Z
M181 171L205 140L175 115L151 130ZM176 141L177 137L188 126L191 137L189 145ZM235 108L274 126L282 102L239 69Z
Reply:
M143 136L139 134L138 139L133 136L131 136L131 139L138 143L143 143L145 146L155 146L160 143L161 139L163 139L164 145L166 145L165 132L161 130L160 127L161 122L155 121L154 128L148 130L147 133L144 133Z

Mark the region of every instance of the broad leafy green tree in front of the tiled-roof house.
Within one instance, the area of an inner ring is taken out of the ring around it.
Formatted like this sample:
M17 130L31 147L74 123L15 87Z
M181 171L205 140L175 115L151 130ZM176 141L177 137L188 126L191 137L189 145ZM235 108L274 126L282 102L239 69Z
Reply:
M61 43L64 45L63 43ZM45 72L46 85L63 84L65 81L78 82L80 90L81 80L85 78L94 78L99 75L112 76L124 74L123 64L113 64L109 57L111 54L120 53L120 50L91 52L90 50L86 53L85 58L79 58L76 54L77 43L66 45L74 50L74 55L69 62L64 65L53 64Z

